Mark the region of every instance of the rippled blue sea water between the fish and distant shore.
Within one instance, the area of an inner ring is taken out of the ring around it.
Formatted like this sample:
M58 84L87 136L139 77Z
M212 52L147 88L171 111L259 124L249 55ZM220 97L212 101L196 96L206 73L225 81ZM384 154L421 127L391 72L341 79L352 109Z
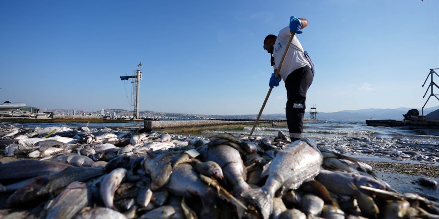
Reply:
M126 122L126 123L82 123L82 122L72 122L72 123L16 123L13 124L16 127L68 127L68 128L79 128L87 126L88 128L140 128L143 127L143 122ZM228 133L234 135L249 135L253 124L249 123L245 126L243 130L226 130ZM288 128L284 126L271 126L271 125L260 125L256 127L253 135L254 136L271 136L275 137L278 132L282 131L288 134ZM225 130L206 130L203 131L201 135L215 135L216 133L223 133ZM439 145L439 128L438 127L374 127L367 126L365 122L360 121L326 121L318 120L316 122L304 123L304 137L381 137L381 138L402 138L402 139L431 139L438 141Z

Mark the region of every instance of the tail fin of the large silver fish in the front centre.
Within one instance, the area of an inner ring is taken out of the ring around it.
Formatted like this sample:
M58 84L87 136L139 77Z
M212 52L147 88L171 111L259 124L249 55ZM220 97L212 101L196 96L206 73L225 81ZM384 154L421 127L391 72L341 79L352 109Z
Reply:
M268 219L273 211L273 197L261 188L249 189L242 192L242 197L248 198L250 203L259 208L264 219Z

